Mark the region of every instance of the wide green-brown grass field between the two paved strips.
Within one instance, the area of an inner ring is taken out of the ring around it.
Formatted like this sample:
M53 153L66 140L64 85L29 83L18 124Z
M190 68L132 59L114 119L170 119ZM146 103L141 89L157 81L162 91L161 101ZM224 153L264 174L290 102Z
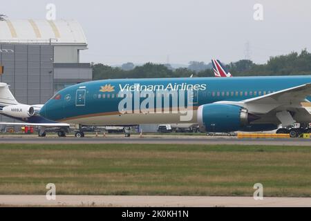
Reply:
M311 146L1 144L0 194L311 196Z

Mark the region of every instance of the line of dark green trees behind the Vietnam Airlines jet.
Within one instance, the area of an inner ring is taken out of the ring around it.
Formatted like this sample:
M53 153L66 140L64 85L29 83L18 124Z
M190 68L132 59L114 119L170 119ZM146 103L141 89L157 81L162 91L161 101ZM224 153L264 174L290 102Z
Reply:
M111 67L104 64L92 64L93 79L124 78L164 78L164 77L214 77L211 64L191 61L187 68L171 68L169 64L147 63L134 66L126 63L122 67ZM308 50L291 52L288 55L270 57L266 64L254 64L242 59L226 65L233 76L263 75L311 75L311 53Z

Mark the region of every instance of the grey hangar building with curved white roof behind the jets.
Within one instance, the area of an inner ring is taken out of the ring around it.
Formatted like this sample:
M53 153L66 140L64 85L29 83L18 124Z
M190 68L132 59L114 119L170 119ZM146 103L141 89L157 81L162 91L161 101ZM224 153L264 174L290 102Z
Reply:
M57 90L92 79L91 64L79 62L86 49L75 20L0 21L0 81L10 84L18 102L44 104Z

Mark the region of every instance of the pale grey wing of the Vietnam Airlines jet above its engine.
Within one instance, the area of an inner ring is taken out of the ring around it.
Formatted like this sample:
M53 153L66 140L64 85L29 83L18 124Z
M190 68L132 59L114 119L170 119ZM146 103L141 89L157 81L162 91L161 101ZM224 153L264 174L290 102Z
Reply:
M302 108L301 102L306 102L306 97L311 95L311 83L279 90L274 93L242 100L241 102L216 102L222 104L236 104L244 106L250 113L265 114L275 108L282 111L285 108Z

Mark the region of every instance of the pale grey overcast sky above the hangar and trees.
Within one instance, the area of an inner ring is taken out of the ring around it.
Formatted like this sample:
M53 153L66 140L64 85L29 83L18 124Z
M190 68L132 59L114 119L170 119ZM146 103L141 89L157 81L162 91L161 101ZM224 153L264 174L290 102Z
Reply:
M45 19L47 3L55 3L57 19L76 19L84 28L89 49L82 62L227 63L250 57L265 63L311 47L310 0L10 0L1 3L0 13ZM263 5L263 21L253 18L255 3Z

